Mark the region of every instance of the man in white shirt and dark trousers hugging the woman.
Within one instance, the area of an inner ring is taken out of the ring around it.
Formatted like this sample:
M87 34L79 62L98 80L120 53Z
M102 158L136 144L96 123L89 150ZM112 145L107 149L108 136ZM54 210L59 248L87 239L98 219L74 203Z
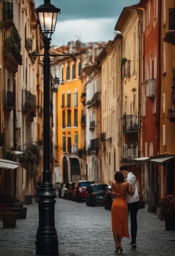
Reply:
M128 205L128 214L130 212L131 216L131 246L133 248L136 248L136 237L137 237L137 211L138 211L138 189L137 189L137 180L135 175L128 170L128 165L123 164L120 166L119 169L124 177L126 178L126 181L131 184L133 189L133 195L128 195L126 197L127 205ZM118 197L118 193L113 192L114 197Z

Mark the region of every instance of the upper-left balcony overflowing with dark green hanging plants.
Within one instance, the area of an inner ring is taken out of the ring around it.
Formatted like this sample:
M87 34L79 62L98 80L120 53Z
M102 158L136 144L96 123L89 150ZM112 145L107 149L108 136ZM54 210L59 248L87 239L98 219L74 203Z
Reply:
M20 38L18 38L18 41L17 36L18 35L15 36L15 39L13 36L6 37L3 46L4 65L8 71L13 74L18 71L18 65L23 65L22 56L20 54Z

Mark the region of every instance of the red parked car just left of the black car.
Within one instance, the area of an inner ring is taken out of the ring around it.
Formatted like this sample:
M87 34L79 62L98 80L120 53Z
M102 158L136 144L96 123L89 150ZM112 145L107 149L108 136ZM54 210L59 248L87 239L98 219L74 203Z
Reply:
M76 202L85 201L86 198L86 188L91 184L94 184L94 181L77 181L75 183L74 197Z

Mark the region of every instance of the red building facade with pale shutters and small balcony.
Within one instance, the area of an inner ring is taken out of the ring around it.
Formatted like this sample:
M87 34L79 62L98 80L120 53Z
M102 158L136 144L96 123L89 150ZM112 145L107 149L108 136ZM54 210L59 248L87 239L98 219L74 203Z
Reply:
M143 77L141 88L143 157L159 153L159 0L147 0L143 12Z

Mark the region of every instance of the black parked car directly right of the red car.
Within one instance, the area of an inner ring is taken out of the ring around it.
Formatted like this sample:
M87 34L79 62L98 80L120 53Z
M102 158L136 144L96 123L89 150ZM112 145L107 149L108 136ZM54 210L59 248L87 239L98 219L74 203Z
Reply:
M86 205L95 206L96 204L103 205L104 192L107 184L91 184L86 189Z

